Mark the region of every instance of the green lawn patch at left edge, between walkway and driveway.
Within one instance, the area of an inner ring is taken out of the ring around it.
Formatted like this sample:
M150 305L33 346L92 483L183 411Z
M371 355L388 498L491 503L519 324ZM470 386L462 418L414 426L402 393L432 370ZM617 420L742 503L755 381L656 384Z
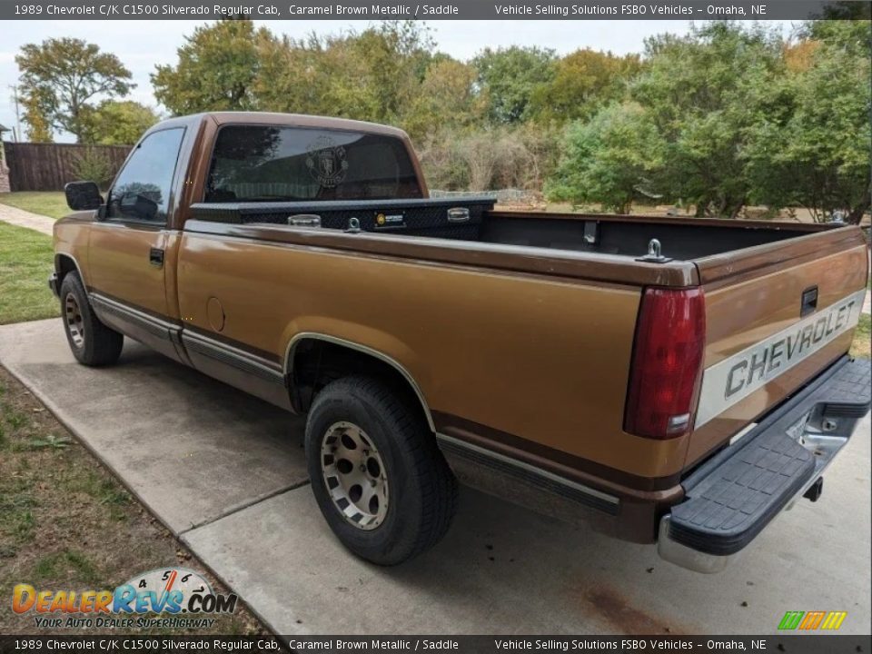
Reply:
M46 283L53 261L51 236L0 222L0 324L60 315Z

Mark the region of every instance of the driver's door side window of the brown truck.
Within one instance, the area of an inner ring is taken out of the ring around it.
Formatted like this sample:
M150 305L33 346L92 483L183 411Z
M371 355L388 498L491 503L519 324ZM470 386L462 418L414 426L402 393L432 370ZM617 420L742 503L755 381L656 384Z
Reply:
M182 127L162 130L136 146L109 192L108 219L166 223L183 134Z

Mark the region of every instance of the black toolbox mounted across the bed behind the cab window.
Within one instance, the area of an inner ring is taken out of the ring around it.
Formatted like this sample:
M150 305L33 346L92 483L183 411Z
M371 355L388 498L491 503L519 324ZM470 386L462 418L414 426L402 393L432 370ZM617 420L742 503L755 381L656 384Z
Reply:
M281 224L332 230L475 240L492 197L324 202L196 203L192 218L217 223Z

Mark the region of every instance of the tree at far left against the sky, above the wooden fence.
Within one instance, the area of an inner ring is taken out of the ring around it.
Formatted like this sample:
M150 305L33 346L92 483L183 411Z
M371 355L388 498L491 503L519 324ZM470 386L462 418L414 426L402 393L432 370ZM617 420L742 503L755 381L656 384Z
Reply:
M15 55L29 134L50 135L52 127L81 141L83 114L96 97L123 96L134 88L131 74L114 54L81 39L47 39ZM34 122L31 123L30 121Z

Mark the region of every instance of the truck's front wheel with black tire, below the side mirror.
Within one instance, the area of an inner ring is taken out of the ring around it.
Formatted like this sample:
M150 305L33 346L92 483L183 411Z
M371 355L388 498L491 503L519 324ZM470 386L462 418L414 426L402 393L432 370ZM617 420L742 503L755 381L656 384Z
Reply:
M94 315L78 272L67 272L61 283L61 320L66 342L79 363L88 366L110 365L118 361L124 335L106 327Z

